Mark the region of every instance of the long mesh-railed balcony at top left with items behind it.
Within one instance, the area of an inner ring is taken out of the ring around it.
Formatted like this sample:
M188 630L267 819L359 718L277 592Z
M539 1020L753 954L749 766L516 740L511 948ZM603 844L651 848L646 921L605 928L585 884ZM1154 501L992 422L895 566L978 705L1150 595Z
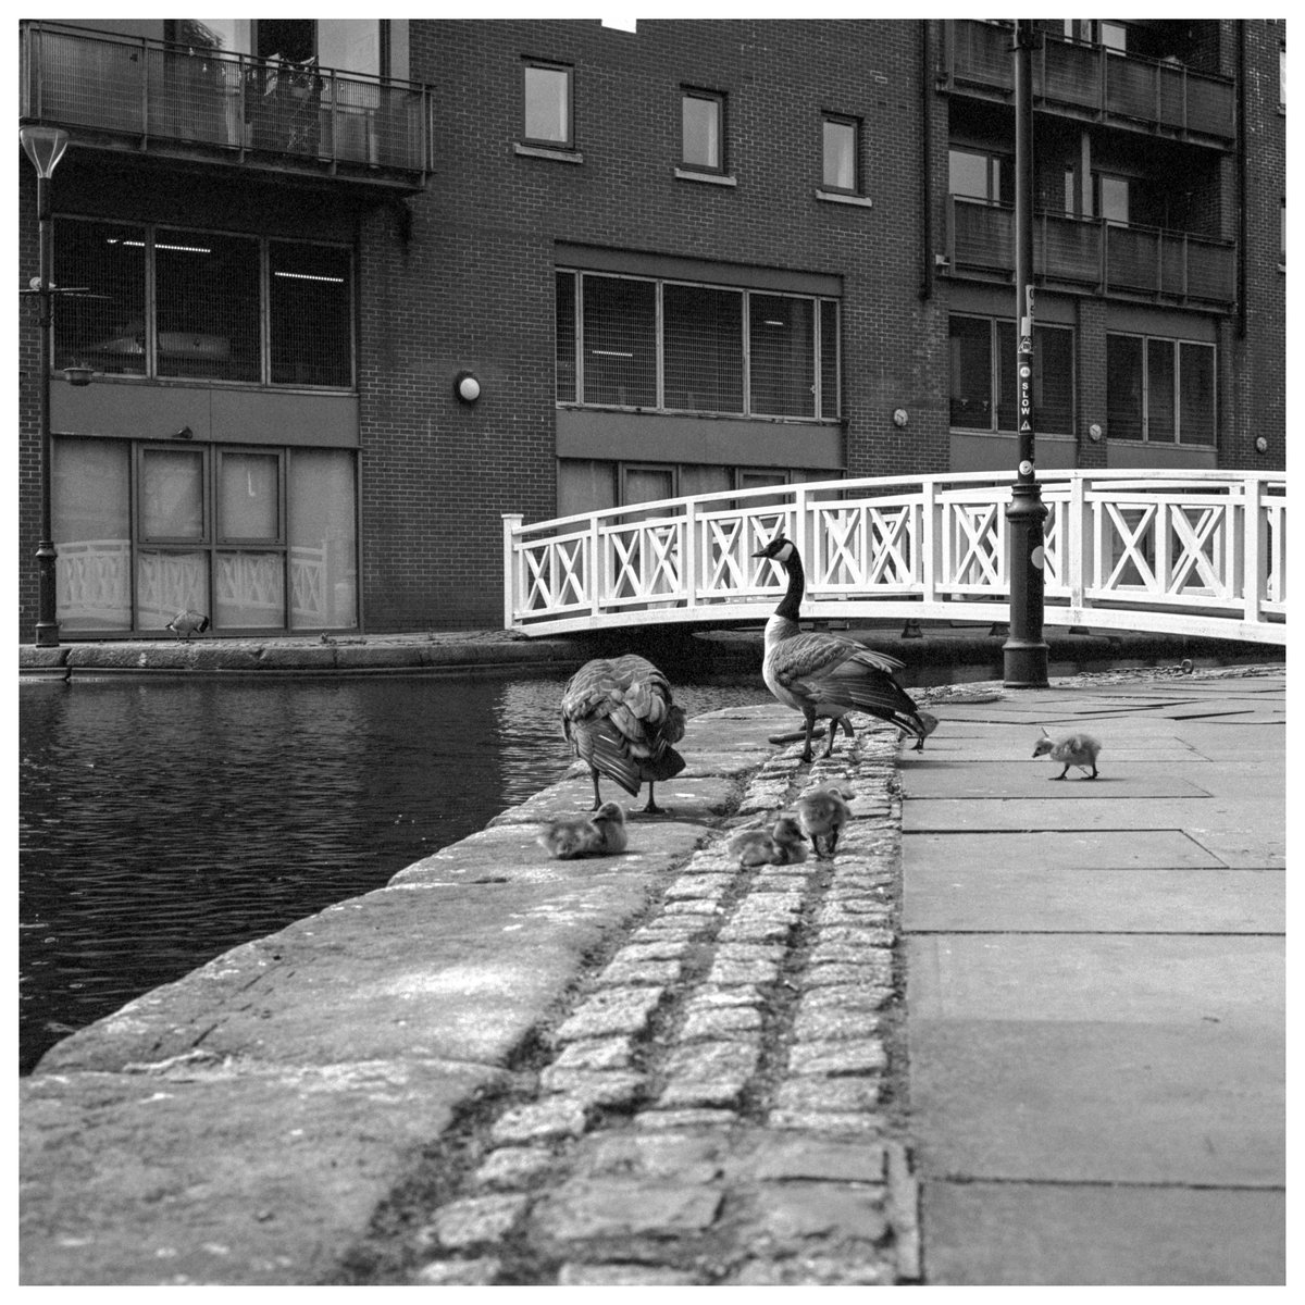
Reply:
M341 176L401 192L431 171L431 93L60 23L21 27L20 115L78 146Z

